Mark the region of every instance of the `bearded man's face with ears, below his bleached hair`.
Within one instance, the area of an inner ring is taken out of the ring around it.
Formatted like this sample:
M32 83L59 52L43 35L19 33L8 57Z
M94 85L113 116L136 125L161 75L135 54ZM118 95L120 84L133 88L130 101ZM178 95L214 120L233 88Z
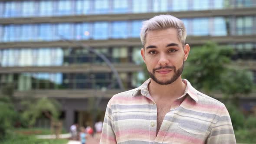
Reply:
M152 80L168 85L181 77L190 47L182 47L174 28L148 31L141 56Z

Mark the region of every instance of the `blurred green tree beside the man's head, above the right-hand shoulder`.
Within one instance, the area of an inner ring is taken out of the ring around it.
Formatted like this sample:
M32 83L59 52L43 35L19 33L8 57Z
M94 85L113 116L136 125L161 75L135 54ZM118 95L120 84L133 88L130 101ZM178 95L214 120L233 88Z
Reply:
M226 99L238 99L252 91L253 75L246 69L229 66L233 53L231 47L213 42L192 48L183 77L207 94L220 91Z

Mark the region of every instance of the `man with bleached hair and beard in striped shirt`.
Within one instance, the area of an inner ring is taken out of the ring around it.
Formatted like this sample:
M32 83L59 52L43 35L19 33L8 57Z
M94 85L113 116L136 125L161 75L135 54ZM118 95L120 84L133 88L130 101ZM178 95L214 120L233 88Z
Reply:
M181 79L186 36L174 16L144 21L141 56L151 79L111 98L100 144L236 144L225 105Z

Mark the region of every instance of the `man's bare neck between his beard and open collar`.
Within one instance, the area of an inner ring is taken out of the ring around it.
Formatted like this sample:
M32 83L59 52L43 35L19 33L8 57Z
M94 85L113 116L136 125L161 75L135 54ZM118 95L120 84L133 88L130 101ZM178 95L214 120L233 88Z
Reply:
M160 99L176 99L184 94L186 84L182 82L181 76L169 85L160 85L151 79L148 90L151 97L158 101Z

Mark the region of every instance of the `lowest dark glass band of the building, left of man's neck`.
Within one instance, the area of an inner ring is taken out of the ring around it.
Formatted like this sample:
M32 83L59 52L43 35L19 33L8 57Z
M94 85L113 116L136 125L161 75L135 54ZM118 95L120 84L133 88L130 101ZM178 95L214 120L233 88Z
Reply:
M127 73L119 73L122 82L130 85ZM0 87L12 84L18 91L35 89L108 89L118 88L112 73L8 73L0 74ZM127 88L127 87L126 87Z

